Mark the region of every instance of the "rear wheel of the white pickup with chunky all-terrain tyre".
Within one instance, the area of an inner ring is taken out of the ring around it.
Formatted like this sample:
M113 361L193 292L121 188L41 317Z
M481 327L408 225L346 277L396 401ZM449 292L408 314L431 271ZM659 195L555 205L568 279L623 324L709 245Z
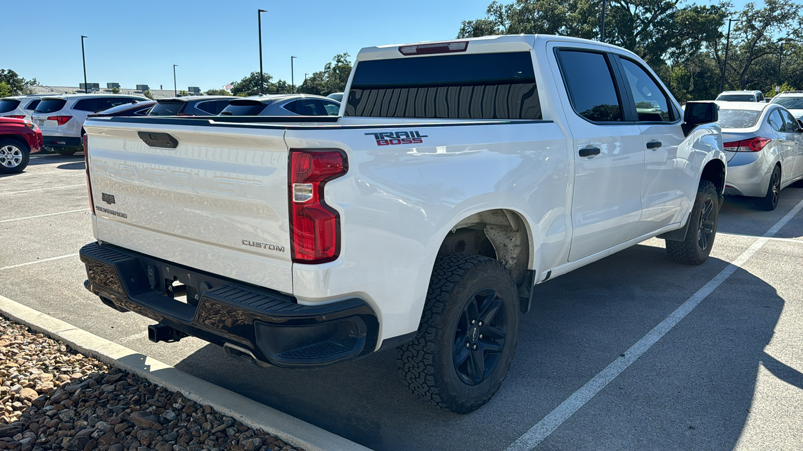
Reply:
M519 299L510 271L479 255L442 256L418 333L397 348L402 379L427 403L471 412L499 390L518 335Z

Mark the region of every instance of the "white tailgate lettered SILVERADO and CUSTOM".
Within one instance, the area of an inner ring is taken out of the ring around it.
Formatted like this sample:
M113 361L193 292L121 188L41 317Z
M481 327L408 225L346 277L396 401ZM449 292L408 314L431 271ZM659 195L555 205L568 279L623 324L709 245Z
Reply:
M292 292L282 128L91 120L85 129L100 241ZM174 148L153 141L167 136Z

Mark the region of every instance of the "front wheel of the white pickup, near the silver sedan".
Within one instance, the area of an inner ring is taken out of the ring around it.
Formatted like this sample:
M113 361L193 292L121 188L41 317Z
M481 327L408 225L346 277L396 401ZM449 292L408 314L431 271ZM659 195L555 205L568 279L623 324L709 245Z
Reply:
M714 184L700 181L691 208L686 237L682 242L666 240L666 254L675 262L699 265L711 254L719 221L719 196Z

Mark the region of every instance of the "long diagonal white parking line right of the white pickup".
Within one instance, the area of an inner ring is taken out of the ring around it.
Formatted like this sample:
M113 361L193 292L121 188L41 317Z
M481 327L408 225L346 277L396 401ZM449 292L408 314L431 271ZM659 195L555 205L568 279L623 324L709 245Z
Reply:
M577 392L574 392L572 396L569 396L568 399L563 401L552 410L552 412L544 416L538 424L532 426L524 435L516 439L516 441L507 447L507 451L529 451L534 449L541 441L544 441L546 437L549 437L549 434L560 427L574 412L577 412L585 403L596 396L602 388L605 388L612 380L622 374L630 364L649 350L663 335L671 331L672 327L675 327L675 325L694 310L699 303L703 302L703 299L706 299L717 286L736 272L740 266L744 265L744 262L747 262L753 254L756 254L756 252L772 238L772 235L777 234L778 230L781 230L781 227L786 225L797 213L800 213L801 209L803 209L803 201L795 205L785 217L781 218L781 221L777 221L775 225L772 225L762 237L757 238L756 242L753 242L747 250L736 258L736 260L726 266L724 270L719 271L719 274L716 274L714 278L708 281L694 295L691 295L691 298L687 299L685 303L681 304L680 307L667 316L661 323L658 323L658 326L655 326L653 330L647 332L642 339L639 339L638 342L625 352L624 356L613 360L605 369L597 373L597 376L594 376L591 380L586 382Z

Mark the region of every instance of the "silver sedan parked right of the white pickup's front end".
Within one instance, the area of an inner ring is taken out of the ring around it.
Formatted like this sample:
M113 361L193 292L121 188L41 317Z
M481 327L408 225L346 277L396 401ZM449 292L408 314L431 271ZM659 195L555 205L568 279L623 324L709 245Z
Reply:
M777 104L716 102L728 154L725 194L756 197L772 210L781 189L803 178L803 129Z

